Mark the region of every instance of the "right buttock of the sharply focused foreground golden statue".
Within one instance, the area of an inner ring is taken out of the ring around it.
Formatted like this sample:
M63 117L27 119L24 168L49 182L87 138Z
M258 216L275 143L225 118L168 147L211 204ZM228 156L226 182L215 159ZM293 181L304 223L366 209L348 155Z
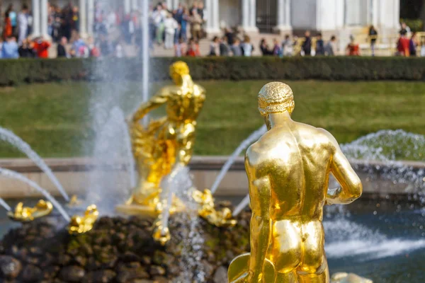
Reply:
M302 264L298 271L301 274L320 275L327 268L322 222L317 220L303 224L302 236Z

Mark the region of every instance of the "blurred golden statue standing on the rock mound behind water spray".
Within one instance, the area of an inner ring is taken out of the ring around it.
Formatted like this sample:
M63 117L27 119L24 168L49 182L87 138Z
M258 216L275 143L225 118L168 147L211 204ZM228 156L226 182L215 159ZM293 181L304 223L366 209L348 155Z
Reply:
M172 64L170 76L175 84L159 90L130 121L140 180L128 204L161 209L158 205L162 178L174 166L186 166L192 158L196 118L205 101L205 89L193 83L185 62ZM161 105L166 105L166 117L150 122L145 129L140 121Z

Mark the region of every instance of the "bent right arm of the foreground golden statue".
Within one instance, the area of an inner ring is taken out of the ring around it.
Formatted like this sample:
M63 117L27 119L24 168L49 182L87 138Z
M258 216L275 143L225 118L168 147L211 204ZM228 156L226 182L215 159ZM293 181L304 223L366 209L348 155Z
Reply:
M327 135L334 151L331 159L331 173L341 185L334 192L328 192L327 204L350 204L361 197L363 186L336 139L329 132L327 132Z

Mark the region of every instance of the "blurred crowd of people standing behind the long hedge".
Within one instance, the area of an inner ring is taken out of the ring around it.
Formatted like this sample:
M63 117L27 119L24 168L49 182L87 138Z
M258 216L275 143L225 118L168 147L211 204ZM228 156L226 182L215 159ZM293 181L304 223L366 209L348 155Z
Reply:
M271 45L266 38L259 44L253 44L248 35L239 33L237 28L225 28L222 36L215 36L210 41L208 54L201 54L199 41L205 38L205 17L203 1L193 1L188 7L179 4L176 9L169 9L166 2L158 2L149 11L149 47L162 45L166 50L174 49L176 57L209 56L244 56L256 54L263 56L288 57L302 56L334 56L340 54L335 35L324 40L322 33L312 37L306 31L304 37L285 35L273 39ZM0 38L0 58L40 57L50 55L50 47L55 44L57 57L125 57L125 46L131 45L133 50L142 51L142 25L140 11L124 13L102 6L98 2L94 11L94 37L83 40L80 37L79 8L67 4L60 8L48 6L47 33L49 40L43 37L29 37L33 30L33 18L26 4L16 12L13 4L4 13L4 21ZM398 56L425 56L425 44L402 23L397 41ZM375 55L378 42L378 31L370 26L368 32L371 54ZM258 48L258 50L257 50ZM419 50L417 52L416 50ZM346 55L360 55L360 46L351 35L346 46Z

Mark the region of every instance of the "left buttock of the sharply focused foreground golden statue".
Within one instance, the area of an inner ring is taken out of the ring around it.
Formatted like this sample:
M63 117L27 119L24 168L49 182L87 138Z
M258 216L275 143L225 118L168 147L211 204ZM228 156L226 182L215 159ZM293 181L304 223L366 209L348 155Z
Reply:
M300 225L289 220L273 224L271 249L268 258L274 263L276 272L292 272L300 265L302 239Z

